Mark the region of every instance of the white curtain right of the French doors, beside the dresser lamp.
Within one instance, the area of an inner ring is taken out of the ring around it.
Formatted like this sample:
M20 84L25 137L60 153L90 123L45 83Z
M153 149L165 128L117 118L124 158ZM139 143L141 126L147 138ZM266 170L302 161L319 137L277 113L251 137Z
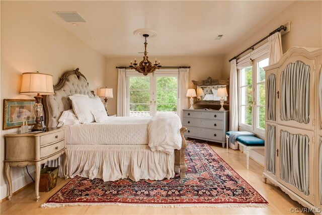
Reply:
M189 88L189 68L179 68L179 117L182 120L183 109L188 108L188 98L186 93Z

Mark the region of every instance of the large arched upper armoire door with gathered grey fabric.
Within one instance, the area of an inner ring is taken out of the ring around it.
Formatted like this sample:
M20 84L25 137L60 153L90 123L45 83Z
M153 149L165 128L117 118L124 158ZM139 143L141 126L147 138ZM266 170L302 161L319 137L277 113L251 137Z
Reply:
M277 122L314 130L314 59L290 57L277 73Z

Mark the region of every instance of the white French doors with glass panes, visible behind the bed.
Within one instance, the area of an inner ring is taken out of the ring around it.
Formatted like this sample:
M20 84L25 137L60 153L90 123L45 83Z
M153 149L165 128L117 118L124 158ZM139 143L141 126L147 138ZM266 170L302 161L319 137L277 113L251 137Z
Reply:
M127 71L127 116L178 112L178 70L162 69L143 76Z

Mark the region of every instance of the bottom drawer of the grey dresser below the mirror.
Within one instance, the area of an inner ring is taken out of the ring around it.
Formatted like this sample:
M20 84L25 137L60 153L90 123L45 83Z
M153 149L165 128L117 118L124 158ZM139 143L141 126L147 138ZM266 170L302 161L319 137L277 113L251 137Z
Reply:
M185 132L186 136L194 136L201 137L211 140L222 141L223 132L222 130L209 129L209 128L199 128L199 127L187 127L187 131Z

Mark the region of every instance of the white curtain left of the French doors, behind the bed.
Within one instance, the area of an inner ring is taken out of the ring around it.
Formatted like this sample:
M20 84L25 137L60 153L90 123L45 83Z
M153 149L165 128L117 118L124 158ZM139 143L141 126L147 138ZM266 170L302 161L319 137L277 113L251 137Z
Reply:
M126 73L125 68L119 68L117 77L117 116L126 116L126 104Z

